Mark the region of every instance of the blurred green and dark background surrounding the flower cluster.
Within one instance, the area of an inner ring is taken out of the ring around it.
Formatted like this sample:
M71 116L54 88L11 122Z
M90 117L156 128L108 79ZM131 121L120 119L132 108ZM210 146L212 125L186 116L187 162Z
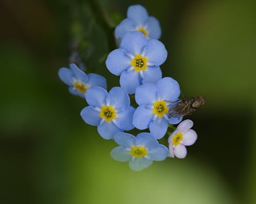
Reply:
M86 101L57 75L77 39L82 61L108 79L108 34L95 1L0 2L1 203L256 203L254 1L98 1L115 27L142 4L162 27L163 75L186 96L206 95L191 118L185 159L141 172L111 159L117 146L80 118Z

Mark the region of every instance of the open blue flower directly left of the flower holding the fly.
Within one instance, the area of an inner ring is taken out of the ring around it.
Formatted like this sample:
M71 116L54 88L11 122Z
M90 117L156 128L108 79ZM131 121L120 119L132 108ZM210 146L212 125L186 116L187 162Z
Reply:
M101 87L87 90L88 107L81 111L82 119L97 125L98 133L104 139L113 139L118 132L130 131L135 108L130 106L130 98L121 87L113 87L109 93Z

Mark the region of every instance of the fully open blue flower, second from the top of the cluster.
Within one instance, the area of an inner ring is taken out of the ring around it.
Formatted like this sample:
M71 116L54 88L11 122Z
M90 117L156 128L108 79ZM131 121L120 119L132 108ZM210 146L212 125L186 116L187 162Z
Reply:
M162 42L148 40L138 31L127 33L120 48L113 50L106 59L111 73L120 75L120 86L133 94L144 83L156 83L162 78L160 65L167 58Z

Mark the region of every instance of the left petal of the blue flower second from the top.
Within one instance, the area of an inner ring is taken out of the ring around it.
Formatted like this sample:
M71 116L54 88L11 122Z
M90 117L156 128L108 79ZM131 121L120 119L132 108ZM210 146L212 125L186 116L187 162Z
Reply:
M106 67L111 73L120 76L123 71L131 67L131 61L125 49L114 49L106 58Z

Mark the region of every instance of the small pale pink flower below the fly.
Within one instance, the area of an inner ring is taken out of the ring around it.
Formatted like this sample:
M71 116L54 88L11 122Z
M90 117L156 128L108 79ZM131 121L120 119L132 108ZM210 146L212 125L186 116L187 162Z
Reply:
M197 133L190 128L193 126L192 120L182 121L177 129L168 138L169 155L168 157L185 158L187 150L185 146L192 145L197 140Z

